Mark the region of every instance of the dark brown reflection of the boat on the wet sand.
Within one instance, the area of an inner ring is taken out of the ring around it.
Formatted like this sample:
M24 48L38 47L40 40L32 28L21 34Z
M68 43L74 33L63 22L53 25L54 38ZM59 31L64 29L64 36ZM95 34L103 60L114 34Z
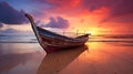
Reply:
M37 74L58 74L86 49L88 46L83 45L47 54Z

